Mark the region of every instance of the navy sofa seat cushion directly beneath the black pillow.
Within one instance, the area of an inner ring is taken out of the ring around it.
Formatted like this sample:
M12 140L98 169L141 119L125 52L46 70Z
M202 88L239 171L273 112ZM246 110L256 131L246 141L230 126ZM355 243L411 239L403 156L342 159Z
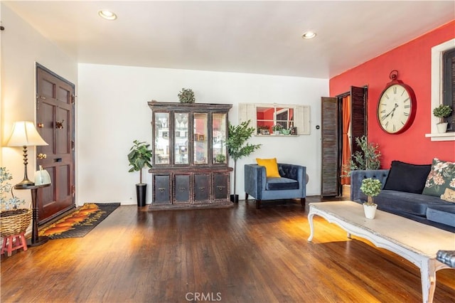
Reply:
M379 209L412 213L417 216L427 216L428 207L448 203L434 196L390 190L382 190L378 196L375 196L374 201Z

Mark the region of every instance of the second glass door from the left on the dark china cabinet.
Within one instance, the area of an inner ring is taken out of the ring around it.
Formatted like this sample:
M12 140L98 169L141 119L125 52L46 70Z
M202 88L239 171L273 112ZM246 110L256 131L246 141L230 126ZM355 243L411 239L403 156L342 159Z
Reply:
M188 112L174 112L174 164L189 164L188 159Z

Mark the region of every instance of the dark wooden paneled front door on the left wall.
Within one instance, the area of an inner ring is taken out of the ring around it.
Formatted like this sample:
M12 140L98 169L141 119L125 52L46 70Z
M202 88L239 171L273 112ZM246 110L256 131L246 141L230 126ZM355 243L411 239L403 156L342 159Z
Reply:
M36 65L36 127L49 145L36 147L52 185L40 191L38 223L75 207L75 85Z

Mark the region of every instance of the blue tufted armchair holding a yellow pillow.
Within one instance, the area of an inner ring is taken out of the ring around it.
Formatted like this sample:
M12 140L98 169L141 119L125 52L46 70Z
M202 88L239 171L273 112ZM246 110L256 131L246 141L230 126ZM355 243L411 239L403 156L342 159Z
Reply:
M245 164L245 200L253 196L259 208L262 200L300 198L305 207L306 167L279 163L278 172L281 178L267 178L264 166Z

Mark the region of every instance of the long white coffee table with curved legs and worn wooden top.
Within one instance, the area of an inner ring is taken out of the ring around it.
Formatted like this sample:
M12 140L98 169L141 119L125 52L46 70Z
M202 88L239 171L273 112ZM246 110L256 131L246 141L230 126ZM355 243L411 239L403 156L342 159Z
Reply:
M350 235L370 240L419 267L422 281L422 301L432 302L436 287L436 272L449 266L436 260L438 250L455 250L455 233L441 230L414 220L377 211L373 220L365 218L363 206L353 201L309 203L308 220L314 236L314 215L336 223Z

